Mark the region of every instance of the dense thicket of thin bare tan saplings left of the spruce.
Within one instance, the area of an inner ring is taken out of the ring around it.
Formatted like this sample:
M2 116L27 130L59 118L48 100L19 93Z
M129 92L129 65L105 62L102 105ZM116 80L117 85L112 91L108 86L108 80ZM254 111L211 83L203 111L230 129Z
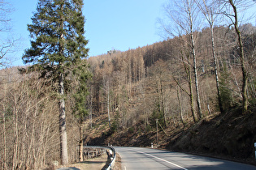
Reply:
M59 144L55 140L58 108L54 107L58 101L50 96L50 87L45 86L44 80L30 77L0 85L0 169L38 169L59 155L55 149Z

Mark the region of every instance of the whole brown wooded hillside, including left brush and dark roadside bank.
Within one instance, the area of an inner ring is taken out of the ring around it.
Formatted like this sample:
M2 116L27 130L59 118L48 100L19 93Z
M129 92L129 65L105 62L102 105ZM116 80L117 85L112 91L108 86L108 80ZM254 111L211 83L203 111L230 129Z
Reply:
M244 27L254 28L249 24ZM256 34L242 33L249 101L249 109L243 114L243 74L236 33L232 28L215 28L215 63L209 31L204 28L195 32L198 91L189 36L84 60L93 74L83 84L85 103L81 107L85 117L74 112L80 83L76 76L68 75L65 110L70 163L79 161L77 146L83 141L84 145L127 147L150 147L151 142L154 146L158 142L162 149L253 164ZM54 78L42 79L40 71L20 74L15 67L0 70L0 81L0 156L5 160L0 164L38 169L52 161L61 162L58 83Z

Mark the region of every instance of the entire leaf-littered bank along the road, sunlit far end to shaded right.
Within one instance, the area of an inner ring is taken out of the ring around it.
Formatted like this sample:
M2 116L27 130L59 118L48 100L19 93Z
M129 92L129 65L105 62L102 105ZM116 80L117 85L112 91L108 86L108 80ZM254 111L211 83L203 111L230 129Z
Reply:
M143 129L137 123L127 129L111 132L105 118L92 130L86 141L89 145L108 145L124 147L150 147L156 142L156 130ZM242 115L240 108L232 108L224 114L212 114L202 121L170 125L158 129L158 148L168 151L182 151L196 155L206 155L237 162L256 164L254 142L256 142L256 107L249 108Z

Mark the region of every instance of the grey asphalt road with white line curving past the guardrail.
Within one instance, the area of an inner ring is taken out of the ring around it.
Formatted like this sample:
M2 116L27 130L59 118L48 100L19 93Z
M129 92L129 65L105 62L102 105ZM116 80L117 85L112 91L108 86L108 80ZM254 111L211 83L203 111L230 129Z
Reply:
M255 166L197 155L160 151L141 147L115 147L124 170L132 169L239 169L256 170Z

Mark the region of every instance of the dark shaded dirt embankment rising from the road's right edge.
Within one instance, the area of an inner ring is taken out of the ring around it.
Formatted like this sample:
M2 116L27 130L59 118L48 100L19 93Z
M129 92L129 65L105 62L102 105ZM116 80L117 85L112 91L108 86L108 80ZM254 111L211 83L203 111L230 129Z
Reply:
M205 118L188 130L173 135L168 150L210 155L255 164L255 108L246 115L232 110L224 115Z

